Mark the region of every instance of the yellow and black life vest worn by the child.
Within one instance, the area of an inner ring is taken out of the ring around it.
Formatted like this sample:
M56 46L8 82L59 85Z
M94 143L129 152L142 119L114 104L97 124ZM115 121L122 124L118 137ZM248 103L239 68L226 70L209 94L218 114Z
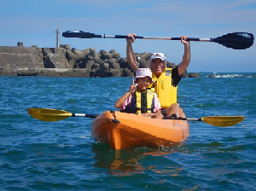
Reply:
M149 90L141 93L140 91L135 92L136 98L136 114L141 115L142 113L152 112L152 103L154 99L154 92Z

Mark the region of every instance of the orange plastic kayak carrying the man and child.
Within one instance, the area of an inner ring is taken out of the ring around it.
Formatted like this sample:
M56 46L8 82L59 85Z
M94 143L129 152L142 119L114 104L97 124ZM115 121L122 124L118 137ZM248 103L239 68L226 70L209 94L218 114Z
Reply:
M183 112L180 117L185 118ZM120 123L114 123L113 119ZM189 123L187 120L150 119L108 111L96 117L91 135L96 142L108 143L112 149L170 147L189 136Z

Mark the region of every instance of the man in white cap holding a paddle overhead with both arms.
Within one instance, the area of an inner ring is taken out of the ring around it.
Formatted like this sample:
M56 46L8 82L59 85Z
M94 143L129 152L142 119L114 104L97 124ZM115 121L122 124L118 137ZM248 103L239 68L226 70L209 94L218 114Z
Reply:
M132 44L135 41L135 33L129 33L126 39L126 55L131 69L137 72L139 64L136 61L136 56L132 49ZM151 55L151 71L153 80L155 81L152 90L157 93L160 98L162 114L166 117L179 117L182 109L177 103L177 84L182 78L183 72L187 69L190 62L190 46L186 41L188 37L181 37L181 43L184 44L183 61L176 68L166 69L166 56L162 53L154 53Z

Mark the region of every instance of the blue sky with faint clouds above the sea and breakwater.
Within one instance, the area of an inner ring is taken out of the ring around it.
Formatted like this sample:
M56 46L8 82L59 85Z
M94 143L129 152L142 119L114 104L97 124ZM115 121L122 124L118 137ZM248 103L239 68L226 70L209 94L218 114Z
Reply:
M256 36L256 0L0 0L0 46L55 47L55 30L143 37L217 38L229 32ZM115 49L125 57L125 39L62 38L61 44L97 51ZM188 72L256 72L256 46L228 49L218 43L191 42ZM178 41L142 40L138 53L162 52L168 61L182 61Z

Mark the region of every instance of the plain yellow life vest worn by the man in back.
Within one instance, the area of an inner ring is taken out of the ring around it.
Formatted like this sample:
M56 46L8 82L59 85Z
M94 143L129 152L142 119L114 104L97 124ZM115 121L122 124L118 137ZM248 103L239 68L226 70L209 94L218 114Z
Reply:
M152 80L155 83L149 88L158 96L162 108L168 108L173 103L177 103L177 87L172 86L172 68L166 68L159 78L152 72Z

